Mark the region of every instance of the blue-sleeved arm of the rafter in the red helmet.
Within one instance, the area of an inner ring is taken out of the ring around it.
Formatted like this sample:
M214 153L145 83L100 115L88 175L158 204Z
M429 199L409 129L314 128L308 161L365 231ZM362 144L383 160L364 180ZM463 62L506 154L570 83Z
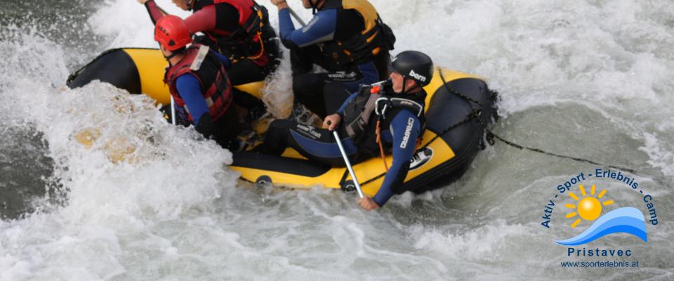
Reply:
M197 129L204 136L211 136L213 134L213 118L202 95L199 79L192 74L180 75L176 79L176 89L178 89L180 98L183 98L187 110L192 115L194 129Z

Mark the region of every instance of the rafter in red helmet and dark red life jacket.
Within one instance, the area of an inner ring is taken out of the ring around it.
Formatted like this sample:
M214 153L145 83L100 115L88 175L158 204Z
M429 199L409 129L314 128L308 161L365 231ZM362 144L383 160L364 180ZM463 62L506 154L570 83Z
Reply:
M230 60L208 46L192 44L183 19L166 15L154 27L154 40L169 60L164 83L176 101L178 123L194 125L206 138L223 148L239 150L236 110L232 106L232 85L226 68Z

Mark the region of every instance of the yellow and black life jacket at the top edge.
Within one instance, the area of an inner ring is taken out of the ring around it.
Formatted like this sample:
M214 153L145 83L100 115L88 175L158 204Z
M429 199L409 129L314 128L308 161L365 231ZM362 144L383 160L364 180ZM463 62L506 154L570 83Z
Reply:
M343 8L355 10L365 22L365 28L359 35L346 41L328 41L323 44L323 52L338 65L364 63L372 56L393 49L395 36L385 25L376 9L366 0L328 0L321 10Z

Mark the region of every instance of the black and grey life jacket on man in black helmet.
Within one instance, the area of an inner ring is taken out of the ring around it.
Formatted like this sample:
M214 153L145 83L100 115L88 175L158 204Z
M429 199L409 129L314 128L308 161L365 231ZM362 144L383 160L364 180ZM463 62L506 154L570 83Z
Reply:
M425 128L426 92L393 93L392 88L381 91L378 86L364 86L355 98L349 101L343 111L343 126L348 136L358 147L358 158L366 159L378 155L380 150L376 141L376 124L388 128L390 122L400 110L409 110L421 122L421 130ZM421 138L420 133L418 138ZM390 145L390 144L389 144Z

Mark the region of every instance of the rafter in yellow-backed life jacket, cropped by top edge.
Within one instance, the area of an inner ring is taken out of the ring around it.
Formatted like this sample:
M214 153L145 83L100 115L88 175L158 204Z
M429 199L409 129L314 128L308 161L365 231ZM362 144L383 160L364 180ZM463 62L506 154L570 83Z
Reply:
M364 35L368 28L371 33ZM303 103L320 117L333 113L325 108L324 94L331 94L324 88L326 84L337 83L352 93L362 84L388 78L388 51L395 38L391 38L390 29L365 0L327 0L314 18L298 30L289 9L282 9L279 35L284 46L291 49L296 102ZM327 72L312 73L314 65Z

